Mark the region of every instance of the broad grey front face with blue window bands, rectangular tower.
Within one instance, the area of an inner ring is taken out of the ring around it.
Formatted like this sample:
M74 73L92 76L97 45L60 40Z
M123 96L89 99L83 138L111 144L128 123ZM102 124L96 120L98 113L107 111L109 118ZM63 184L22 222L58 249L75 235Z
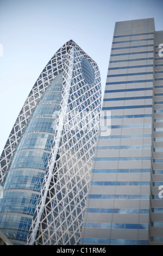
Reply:
M124 26L127 35L123 35L121 22L115 27L100 127L111 133L98 135L82 244L148 244L154 33L139 33L137 21L128 21ZM104 119L110 119L109 125ZM124 234L126 239L120 239Z

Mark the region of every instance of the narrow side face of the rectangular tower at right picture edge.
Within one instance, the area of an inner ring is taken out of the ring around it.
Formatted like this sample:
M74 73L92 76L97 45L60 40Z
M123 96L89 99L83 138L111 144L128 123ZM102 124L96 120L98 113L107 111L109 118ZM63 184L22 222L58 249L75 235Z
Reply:
M162 228L162 80L163 80L163 59L159 56L159 45L163 41L163 32L155 32L155 69L154 69L154 99L153 99L153 129L152 129L152 168L151 168L151 218L150 218L150 237L149 245L163 245L163 228Z

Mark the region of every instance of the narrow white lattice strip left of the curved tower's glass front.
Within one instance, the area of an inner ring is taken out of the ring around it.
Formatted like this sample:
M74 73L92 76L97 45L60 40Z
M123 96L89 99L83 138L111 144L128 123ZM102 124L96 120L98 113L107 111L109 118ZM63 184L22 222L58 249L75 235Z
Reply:
M62 65L66 57L67 51L70 50L71 42L67 42L62 46L57 53L54 54L51 60L49 60L45 69L41 72L37 79L34 87L30 91L27 100L18 115L14 126L10 132L7 143L5 144L4 150L0 158L0 184L3 183L5 173L9 167L12 155L16 149L18 141L26 127L26 124L30 118L30 115L34 111L34 108L39 101L45 89L49 86L49 83L59 74L62 70Z

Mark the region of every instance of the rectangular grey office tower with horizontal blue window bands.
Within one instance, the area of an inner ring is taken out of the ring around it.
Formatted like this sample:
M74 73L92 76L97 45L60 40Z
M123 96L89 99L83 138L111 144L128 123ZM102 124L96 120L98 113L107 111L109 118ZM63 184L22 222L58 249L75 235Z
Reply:
M163 245L162 46L154 19L115 25L81 244Z

